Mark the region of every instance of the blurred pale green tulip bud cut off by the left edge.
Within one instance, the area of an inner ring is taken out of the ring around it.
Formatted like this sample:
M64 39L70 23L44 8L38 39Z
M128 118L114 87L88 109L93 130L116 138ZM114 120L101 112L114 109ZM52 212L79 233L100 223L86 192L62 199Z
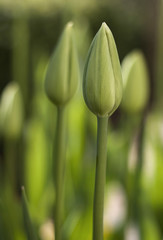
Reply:
M23 103L20 88L12 82L4 89L0 104L0 130L7 139L20 136L23 125Z

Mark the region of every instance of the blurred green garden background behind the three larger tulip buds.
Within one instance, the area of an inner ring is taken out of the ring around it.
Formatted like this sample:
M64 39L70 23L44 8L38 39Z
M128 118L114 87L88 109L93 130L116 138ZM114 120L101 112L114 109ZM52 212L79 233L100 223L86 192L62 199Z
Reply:
M104 21L121 61L134 49L145 56L150 87L146 108L129 113L120 107L109 121L104 233L108 240L161 240L162 0L0 0L0 239L27 239L22 185L39 239L54 239L51 169L56 112L44 94L43 81L68 21L75 23L81 82L89 45ZM96 119L85 106L81 83L68 110L64 240L89 240ZM137 171L139 158L142 166Z

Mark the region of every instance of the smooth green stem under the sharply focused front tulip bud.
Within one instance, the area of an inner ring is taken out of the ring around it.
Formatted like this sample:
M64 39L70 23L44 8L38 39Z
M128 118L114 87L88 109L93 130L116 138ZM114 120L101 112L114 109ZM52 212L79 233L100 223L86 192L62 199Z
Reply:
M98 117L97 123L97 159L93 207L93 240L102 240L104 187L106 181L108 117Z

